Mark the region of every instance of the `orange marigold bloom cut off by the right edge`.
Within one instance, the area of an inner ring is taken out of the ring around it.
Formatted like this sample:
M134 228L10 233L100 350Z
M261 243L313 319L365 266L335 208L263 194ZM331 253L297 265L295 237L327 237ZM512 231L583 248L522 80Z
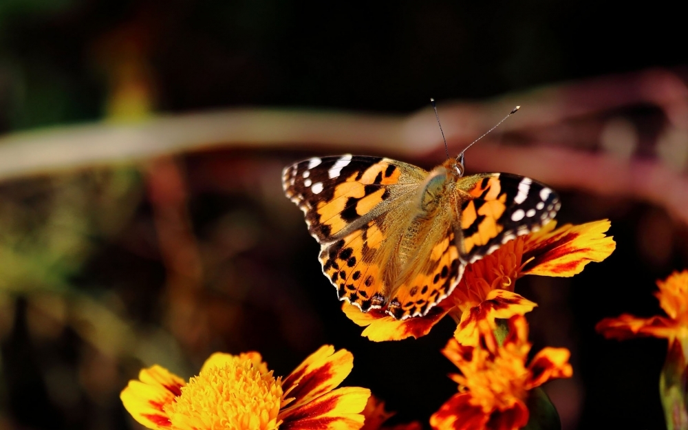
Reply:
M669 339L669 345L678 340L688 356L688 270L674 272L665 281L657 281L657 286L655 296L667 316L638 318L622 314L603 319L596 329L607 338L654 336Z

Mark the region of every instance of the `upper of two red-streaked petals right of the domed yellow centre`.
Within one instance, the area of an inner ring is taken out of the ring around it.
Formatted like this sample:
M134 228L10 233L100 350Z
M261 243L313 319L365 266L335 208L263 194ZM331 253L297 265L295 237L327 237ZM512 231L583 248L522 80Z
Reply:
M354 356L347 350L334 352L332 345L323 345L310 354L282 383L284 397L294 398L290 409L305 405L314 398L332 391L354 368ZM365 403L363 404L365 406ZM361 410L363 410L363 406Z

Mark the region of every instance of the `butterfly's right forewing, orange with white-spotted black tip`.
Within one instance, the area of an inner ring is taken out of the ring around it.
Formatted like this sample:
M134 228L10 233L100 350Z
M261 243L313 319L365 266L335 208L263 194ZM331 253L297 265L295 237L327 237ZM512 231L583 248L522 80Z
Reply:
M466 263L538 230L561 207L559 195L548 186L510 173L467 176L457 185L470 196L460 208L459 253Z

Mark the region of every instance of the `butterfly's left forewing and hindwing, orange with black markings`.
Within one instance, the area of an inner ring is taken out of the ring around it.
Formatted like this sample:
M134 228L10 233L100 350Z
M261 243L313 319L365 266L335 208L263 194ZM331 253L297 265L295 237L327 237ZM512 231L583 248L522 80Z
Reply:
M364 312L386 303L383 272L389 244L398 239L390 237L390 223L402 217L426 175L412 164L358 155L311 158L284 169L284 191L321 244L323 273L340 300Z

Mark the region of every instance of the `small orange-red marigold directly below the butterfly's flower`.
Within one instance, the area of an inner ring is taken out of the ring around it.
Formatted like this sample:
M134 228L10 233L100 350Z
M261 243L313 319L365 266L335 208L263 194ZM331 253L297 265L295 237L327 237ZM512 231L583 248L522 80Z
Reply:
M553 378L570 378L566 348L546 347L526 366L530 343L524 316L506 322L500 345L489 324L478 324L480 342L462 345L451 338L442 353L461 374L450 375L459 392L430 418L437 430L515 430L528 423L529 391Z

